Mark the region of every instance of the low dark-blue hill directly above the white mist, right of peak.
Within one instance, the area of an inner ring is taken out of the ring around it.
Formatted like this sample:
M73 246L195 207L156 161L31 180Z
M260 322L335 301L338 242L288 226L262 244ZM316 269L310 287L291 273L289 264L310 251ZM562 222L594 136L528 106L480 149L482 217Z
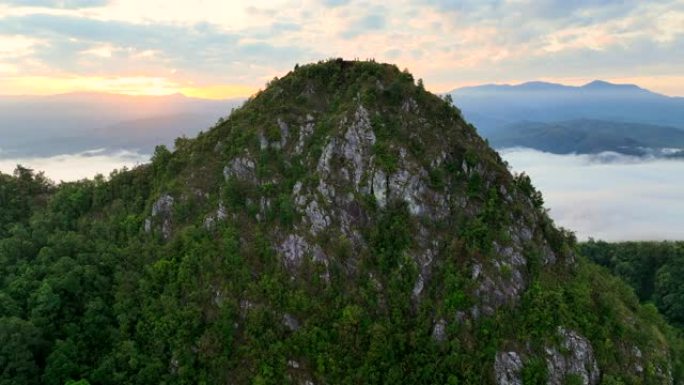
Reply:
M578 119L519 122L489 135L494 147L529 147L556 154L613 151L629 155L672 155L684 148L684 130L674 127Z

